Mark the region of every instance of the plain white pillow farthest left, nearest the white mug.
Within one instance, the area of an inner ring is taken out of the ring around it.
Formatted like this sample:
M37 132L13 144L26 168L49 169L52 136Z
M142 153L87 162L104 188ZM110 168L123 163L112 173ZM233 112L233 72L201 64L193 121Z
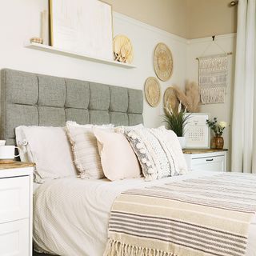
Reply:
M18 126L15 133L21 160L36 164L35 182L77 176L63 127Z

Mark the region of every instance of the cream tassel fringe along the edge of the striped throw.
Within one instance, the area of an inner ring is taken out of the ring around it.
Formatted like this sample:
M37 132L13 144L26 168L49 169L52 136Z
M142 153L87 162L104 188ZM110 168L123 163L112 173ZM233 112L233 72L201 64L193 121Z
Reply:
M119 241L109 239L103 256L178 256L163 250L131 246Z

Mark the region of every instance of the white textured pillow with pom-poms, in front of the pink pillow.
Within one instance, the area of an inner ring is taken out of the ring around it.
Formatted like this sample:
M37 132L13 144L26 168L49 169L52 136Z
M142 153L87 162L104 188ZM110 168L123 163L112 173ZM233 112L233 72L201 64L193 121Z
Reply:
M186 160L176 134L163 126L126 131L147 181L186 174Z

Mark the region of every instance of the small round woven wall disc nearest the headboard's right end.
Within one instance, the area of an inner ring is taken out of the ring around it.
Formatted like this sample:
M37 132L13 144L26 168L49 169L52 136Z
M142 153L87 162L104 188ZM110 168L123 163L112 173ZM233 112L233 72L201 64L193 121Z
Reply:
M158 106L161 99L161 89L158 79L154 77L147 78L144 90L146 101L150 106Z

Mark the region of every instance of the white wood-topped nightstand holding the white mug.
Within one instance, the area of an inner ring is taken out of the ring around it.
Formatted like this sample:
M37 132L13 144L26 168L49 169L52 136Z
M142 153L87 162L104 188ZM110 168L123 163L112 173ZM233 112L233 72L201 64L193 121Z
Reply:
M0 162L0 256L32 256L33 170Z

